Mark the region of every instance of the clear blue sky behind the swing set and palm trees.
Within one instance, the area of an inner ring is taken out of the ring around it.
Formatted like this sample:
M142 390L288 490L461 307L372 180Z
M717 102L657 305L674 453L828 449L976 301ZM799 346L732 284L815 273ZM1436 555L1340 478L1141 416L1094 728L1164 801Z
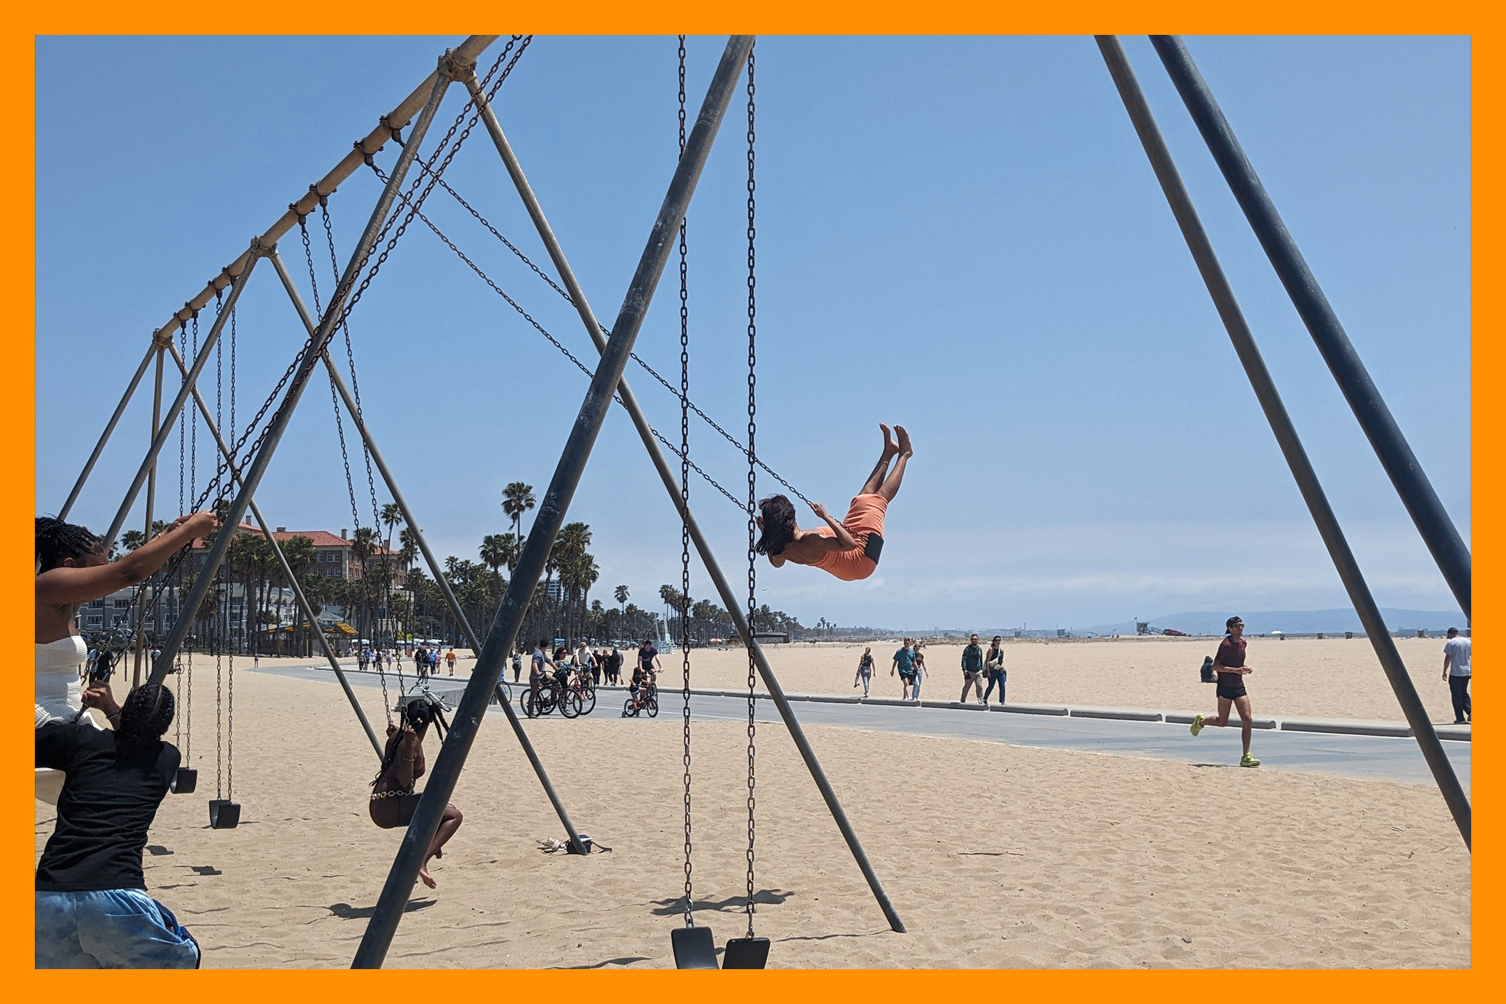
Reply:
M38 39L38 512L62 504L152 328L453 44ZM690 41L693 107L721 44ZM1376 599L1452 610L1149 44L1125 45ZM1468 539L1468 41L1188 47ZM1346 605L1092 39L771 36L758 66L759 452L840 510L878 421L908 426L917 449L878 573L845 584L764 564L764 602L807 623L913 628ZM441 126L462 101L452 92ZM675 39L538 38L498 114L610 321L673 170ZM745 393L742 114L739 95L690 214L691 396L730 431ZM479 128L447 178L547 260ZM331 197L342 248L376 193L363 172ZM428 206L590 358L556 294L447 196ZM303 275L297 232L282 253ZM639 339L666 375L673 281ZM241 303L244 420L303 336L270 268ZM501 486L548 483L584 376L419 224L352 331L367 420L423 530L440 554L476 557L508 528ZM673 397L634 370L651 420L678 438ZM75 518L108 524L148 424L143 394ZM738 455L703 426L691 435L736 492ZM160 498L176 512L176 440L164 462ZM691 491L739 580L741 513ZM289 528L351 525L327 385L303 399L258 501ZM620 412L571 516L595 530L604 599L617 583L639 601L678 583L678 521ZM691 592L709 593L699 567Z

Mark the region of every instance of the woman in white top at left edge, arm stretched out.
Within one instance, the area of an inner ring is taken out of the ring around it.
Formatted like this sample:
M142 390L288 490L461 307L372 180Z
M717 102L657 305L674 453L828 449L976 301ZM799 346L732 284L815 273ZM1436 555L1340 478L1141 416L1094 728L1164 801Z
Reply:
M146 581L178 549L215 527L214 513L179 516L155 539L110 561L98 537L80 525L36 518L36 727L83 712L80 667L87 656L74 626L80 604ZM90 720L92 721L92 720ZM95 723L98 724L98 723ZM36 771L36 796L57 802L60 771Z

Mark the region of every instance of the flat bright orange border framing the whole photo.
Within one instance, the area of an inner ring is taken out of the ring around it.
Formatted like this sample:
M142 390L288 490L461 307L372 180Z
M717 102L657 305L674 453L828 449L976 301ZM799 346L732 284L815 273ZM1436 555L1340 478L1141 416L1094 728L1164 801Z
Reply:
M550 32L550 33L670 33L670 32L747 32L765 30L770 33L804 33L804 35L839 35L839 33L1087 33L1093 30L1125 32L1131 27L1140 30L1176 30L1185 33L1253 33L1253 32L1283 32L1283 33L1468 33L1473 36L1471 74L1473 74L1473 169L1474 169L1474 233L1495 233L1501 221L1501 202L1498 185L1495 184L1500 170L1495 169L1500 154L1500 114L1501 114L1501 63L1500 35L1495 30L1498 15L1492 18L1483 3L1441 3L1419 9L1416 5L1402 5L1395 0L1376 3L1355 3L1354 0L1312 3L1310 0L1294 3L1292 0L1276 0L1265 3L1258 11L1241 9L1224 12L1215 9L1217 5L1190 3L1187 0L1164 2L1131 2L1110 3L1105 0L1087 0L1071 8L1035 8L1021 5L1018 8L1003 8L1001 5L970 3L967 0L952 0L947 3L929 3L925 8L901 5L893 0L876 0L854 3L839 0L828 3L824 9L815 9L809 3L782 0L777 3L759 3L751 8L720 8L705 3L705 0L646 0L634 5L602 3L602 0L584 0L560 5L566 9L554 8L541 11L526 9L517 14L518 21L509 21L511 12L498 12L500 5L465 3L452 5L453 9L444 14L431 15L422 26L411 24L411 6L398 5L392 0L334 0L334 3L319 5L310 9L309 5L289 3L288 0L264 0L253 5L236 5L233 8L188 3L148 3L148 5L104 5L98 0L75 0L66 9L11 9L6 15L5 30L0 32L0 78L5 90L23 99L17 122L12 123L11 137L17 148L11 157L0 161L0 181L3 190L12 193L35 191L35 38L36 35L69 35L69 33L123 33L140 35L146 32L158 33L288 33L289 26L306 33L345 33L373 32L389 33L393 26L404 26L413 30L431 33L453 33L456 38L476 30L494 32ZM506 23L505 27L497 23ZM17 200L20 203L20 200ZM3 354L6 372L26 373L35 369L35 202L27 199L24 205L12 205L12 218L6 232L9 239L0 244L0 297L11 304L11 316L15 322L12 334L6 336ZM1474 247L1474 268L1477 272L1489 275L1497 266L1497 254L1501 251L1492 241L1477 241ZM1489 286L1486 286L1488 289ZM1477 284L1476 289L1480 289ZM1501 372L1506 361L1506 348L1500 339L1491 337L1491 331L1500 331L1500 307L1488 298L1474 298L1474 333L1485 337L1474 339L1471 379L1482 382L1483 375ZM1474 394L1476 405L1473 414L1473 549L1476 557L1482 557L1482 573L1476 578L1480 586L1476 598L1483 611L1482 620L1498 623L1501 580L1495 578L1498 564L1495 557L1501 548L1501 530L1494 522L1494 500L1501 497L1500 465L1492 462L1497 456L1497 438L1506 409L1501 397ZM0 397L0 423L11 435L0 437L0 470L14 471L21 476L21 485L29 491L24 494L11 492L0 495L0 560L5 563L5 575L0 577L3 589L5 610L24 610L24 558L26 558L26 521L32 512L33 495L32 482L35 477L35 381L24 381L12 385L12 390ZM33 437L24 435L33 432ZM23 504L24 503L24 504ZM1486 671L1474 683L1476 700L1489 706L1491 694L1495 692L1494 673L1488 668L1494 664L1491 652L1495 650L1494 637L1486 629L1482 638L1482 664ZM17 735L23 733L20 706L12 701L5 710L5 721ZM1498 744L1494 739L1494 729L1486 720L1485 732L1476 738L1476 750L1482 750L1479 763L1492 763L1498 757ZM30 729L30 723L26 723ZM1373 972L1373 971L1254 971L1241 972L1238 983L1215 992L1258 993L1297 998L1333 998L1336 995L1364 995L1375 999L1392 999L1407 995L1429 995L1461 998L1467 993L1483 990L1494 980L1486 981L1495 971L1494 954L1479 951L1482 941L1488 945L1494 941L1500 923L1498 902L1500 864L1498 847L1495 844L1495 778L1492 772L1482 769L1473 777L1471 801L1474 804L1476 820L1474 841L1482 849L1482 867L1474 873L1473 890L1482 893L1474 900L1476 906L1483 905L1483 911L1473 914L1473 945L1474 968L1468 971L1443 972ZM0 965L8 971L30 971L32 959L27 947L32 944L32 920L26 911L30 899L30 876L33 843L23 841L24 819L18 796L6 799L0 808L0 840L6 849L5 861L9 869L5 872L3 902L8 909L0 912ZM1482 974L1480 977L1476 972ZM477 993L495 995L498 992L550 992L560 990L580 992L593 990L628 998L661 995L673 986L685 987L691 980L709 980L705 986L711 992L726 992L730 980L759 980L768 989L780 993L798 993L801 996L830 995L833 992L858 996L870 1001L895 998L929 996L937 993L980 993L980 995L1051 995L1059 996L1099 996L1114 995L1120 998L1164 998L1169 993L1193 993L1205 984L1200 983L1200 971L1154 971L1154 972L1102 972L1102 971L1026 971L998 975L986 971L955 971L955 972L819 972L819 971L785 971L767 972L764 975L718 974L715 977L694 974L672 975L669 972L512 972L506 983L498 983L497 977L482 972L458 972L447 975L443 986L432 980L413 983L411 992L425 993L455 993L474 990ZM42 983L42 978L47 981ZM221 974L206 972L197 977L193 984L190 977L175 974L155 974L145 977L140 974L111 975L108 983L86 986L90 977L77 974L65 981L36 975L27 977L26 983L14 986L15 993L29 995L35 980L35 989L48 995L78 995L101 993L108 996L127 995L161 998L179 987L182 990L202 993L202 987L214 987L224 999L238 996L265 996L270 992L324 995L339 990L364 990L389 995L393 992L393 980L405 984L414 975L387 972L381 977L363 974L337 977L328 972L309 971L236 971L227 978ZM102 978L102 977L99 977ZM376 983L375 980L381 980ZM419 977L422 978L422 977ZM1476 983L1476 980L1480 983ZM348 981L346 981L348 980ZM1005 981L1001 981L1005 980ZM401 986L401 990L410 989ZM191 987L191 989L190 989ZM744 987L736 987L744 989Z

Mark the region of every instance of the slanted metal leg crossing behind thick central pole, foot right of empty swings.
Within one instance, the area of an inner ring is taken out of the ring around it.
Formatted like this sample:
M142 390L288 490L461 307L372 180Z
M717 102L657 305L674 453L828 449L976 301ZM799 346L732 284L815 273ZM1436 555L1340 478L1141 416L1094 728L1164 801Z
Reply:
M508 167L508 175L512 176L512 182L517 185L518 194L523 197L523 203L527 206L529 215L533 218L533 226L538 227L539 238L544 241L544 247L548 250L550 259L554 262L554 269L559 272L560 281L565 283L565 289L569 292L577 313L580 313L581 324L586 325L586 334L589 334L590 340L596 345L596 351L604 352L607 343L601 336L601 325L596 322L596 315L586 301L586 292L575 280L575 272L571 269L569 260L565 257L565 250L554 236L554 230L550 227L550 221L544 215L544 208L539 206L539 200L533 194L533 187L529 185L529 179L523 173L523 166L518 163L517 155L512 152L512 145L501 131L501 123L497 122L497 116L486 102L480 87L477 87L474 81L467 81L465 86L470 89L471 99L480 110L482 120L486 123L486 131L497 145L497 152L501 155L501 161ZM660 480L664 482L664 488L669 491L670 500L675 503L675 509L679 510L681 518L690 528L691 540L694 540L696 551L700 554L700 561L706 567L706 575L711 577L717 592L721 595L723 605L732 614L733 623L747 641L748 650L753 653L758 664L759 676L764 679L764 686L768 688L770 695L774 698L774 706L779 709L780 718L785 720L785 727L789 729L789 735L795 741L795 747L800 750L801 759L806 762L806 769L810 771L810 777L815 780L816 789L821 792L821 798L827 802L827 810L837 823L837 829L842 831L848 850L852 853L858 869L863 872L863 878L867 879L867 887L872 890L873 899L878 900L880 909L884 911L884 917L889 920L890 929L904 932L905 924L899 920L899 914L895 911L895 905L890 902L889 893L884 891L884 884L880 881L878 873L873 872L873 866L867 859L867 852L863 850L863 843L852 829L852 823L848 822L846 813L842 810L842 802L831 789L831 783L827 780L825 771L821 769L821 762L816 759L815 750L810 748L810 742L806 739L806 733L800 727L800 721L795 718L794 709L789 706L789 701L785 700L785 691L774 677L774 670L764 656L764 649L753 640L753 632L748 629L742 614L742 604L739 598L732 592L730 583L727 583L726 575L723 575L721 566L717 563L717 557L711 551L711 545L706 542L705 534L700 533L700 525L696 522L696 516L690 512L688 506L681 504L679 482L676 480L669 461L664 458L664 452L660 449L658 441L654 438L649 421L645 417L643 409L639 408L639 402L633 396L633 390L628 387L626 378L617 381L617 397L622 400L623 409L633 418L633 424L639 431L639 438L643 440L643 447L649 452L649 459L654 461L654 468L658 471Z

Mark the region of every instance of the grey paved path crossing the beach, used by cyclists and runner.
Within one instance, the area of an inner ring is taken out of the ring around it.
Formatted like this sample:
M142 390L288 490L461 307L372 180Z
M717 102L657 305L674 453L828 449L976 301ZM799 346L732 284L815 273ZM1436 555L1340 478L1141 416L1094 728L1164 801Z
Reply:
M279 667L262 668L304 680L333 683L328 667ZM348 673L352 686L378 686L375 673ZM413 676L405 674L413 683ZM395 692L396 677L387 676L387 685ZM449 697L464 689L465 682L452 677L434 677L437 694ZM515 691L517 692L517 691ZM654 727L679 723L681 697L678 691L661 691L658 720L622 720L623 695L616 689L599 691L599 700L592 718L622 721L623 727ZM453 700L452 700L453 703ZM1157 760L1179 760L1208 768L1238 769L1239 730L1205 729L1196 739L1181 723L1123 721L1113 718L1083 718L1065 715L1011 715L979 712L958 707L916 707L895 704L855 704L828 701L797 701L795 715L806 726L840 726L873 732L898 732L943 739L974 739L1003 742L1044 750L1075 750L1078 753L1104 753L1113 756L1151 757ZM500 709L491 713L500 715ZM756 707L759 723L779 724L779 713L768 700L759 700ZM691 715L699 721L745 721L747 698L693 695ZM352 721L351 727L357 727ZM532 727L569 727L556 715L530 723ZM1453 763L1459 783L1470 790L1470 742L1444 742L1443 748ZM1375 781L1402 781L1407 784L1432 786L1417 742L1410 738L1328 735L1319 732L1280 732L1258 729L1251 751L1261 760L1262 771L1303 771L1313 774L1336 774L1340 777Z

